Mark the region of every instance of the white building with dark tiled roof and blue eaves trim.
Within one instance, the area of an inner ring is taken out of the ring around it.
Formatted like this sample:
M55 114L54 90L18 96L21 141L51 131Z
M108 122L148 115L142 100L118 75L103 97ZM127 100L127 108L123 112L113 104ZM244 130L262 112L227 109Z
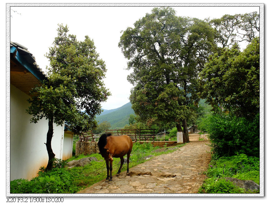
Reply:
M26 113L30 105L29 91L47 79L27 48L10 42L10 181L37 176L39 168L47 166L46 137L48 120L30 123ZM72 156L73 133L54 125L52 150L55 158L66 160Z

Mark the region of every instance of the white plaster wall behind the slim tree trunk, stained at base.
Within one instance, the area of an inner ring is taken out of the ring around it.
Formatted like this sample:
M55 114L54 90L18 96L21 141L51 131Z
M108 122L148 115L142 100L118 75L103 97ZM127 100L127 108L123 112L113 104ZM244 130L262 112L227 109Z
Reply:
M30 105L29 96L15 86L10 86L10 180L37 176L41 166L47 166L46 136L48 121L43 118L30 123L26 113ZM56 158L61 157L64 125L54 125L52 150Z

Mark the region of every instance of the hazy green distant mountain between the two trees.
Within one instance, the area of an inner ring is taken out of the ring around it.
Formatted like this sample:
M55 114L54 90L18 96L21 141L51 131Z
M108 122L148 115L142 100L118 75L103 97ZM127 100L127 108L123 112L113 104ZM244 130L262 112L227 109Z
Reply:
M119 129L129 124L130 114L135 115L129 102L119 108L103 111L101 115L96 116L96 121L108 121L111 124L110 129Z

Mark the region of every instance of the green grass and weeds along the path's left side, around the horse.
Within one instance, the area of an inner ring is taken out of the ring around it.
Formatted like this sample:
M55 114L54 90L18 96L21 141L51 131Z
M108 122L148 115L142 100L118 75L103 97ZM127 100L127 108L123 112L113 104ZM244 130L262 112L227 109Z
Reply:
M177 147L184 146L184 144ZM130 156L129 168L134 167L140 163L145 162L145 156L158 156L172 152L168 150L164 152L153 152L153 150L160 147L154 147L150 143L140 145L135 143L133 145ZM96 157L97 161L91 161L84 167L74 167L71 169L65 168L67 161L78 160L85 157ZM96 182L103 180L106 177L106 166L104 166L104 159L100 154L79 155L73 156L67 161L55 159L53 169L51 171L44 171L44 167L38 173L38 176L32 178L31 181L25 179L17 179L10 182L10 193L76 193L89 187ZM120 167L120 158L114 158L113 161L113 175L115 175ZM123 165L122 172L126 171L127 165ZM101 169L100 169L101 168ZM99 170L100 169L100 170ZM97 170L97 171L96 171Z

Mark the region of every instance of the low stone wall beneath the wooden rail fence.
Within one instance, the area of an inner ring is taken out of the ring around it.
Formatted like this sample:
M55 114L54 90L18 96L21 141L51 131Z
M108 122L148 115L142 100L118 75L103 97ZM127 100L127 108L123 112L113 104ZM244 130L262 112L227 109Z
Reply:
M167 146L172 146L175 143L177 143L177 141L141 141L140 144L143 143L151 143L154 146L164 146L165 143L167 143ZM133 142L134 143L134 142ZM75 155L87 155L87 154L96 154L99 153L99 149L97 146L97 142L76 142L76 153Z

